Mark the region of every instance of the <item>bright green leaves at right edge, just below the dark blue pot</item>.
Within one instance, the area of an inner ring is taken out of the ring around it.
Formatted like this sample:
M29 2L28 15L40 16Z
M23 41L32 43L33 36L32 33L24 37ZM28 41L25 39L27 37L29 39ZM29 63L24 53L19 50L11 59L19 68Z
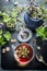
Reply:
M37 32L36 35L40 36L43 39L47 38L47 27L40 26L40 27L36 28L36 32Z

